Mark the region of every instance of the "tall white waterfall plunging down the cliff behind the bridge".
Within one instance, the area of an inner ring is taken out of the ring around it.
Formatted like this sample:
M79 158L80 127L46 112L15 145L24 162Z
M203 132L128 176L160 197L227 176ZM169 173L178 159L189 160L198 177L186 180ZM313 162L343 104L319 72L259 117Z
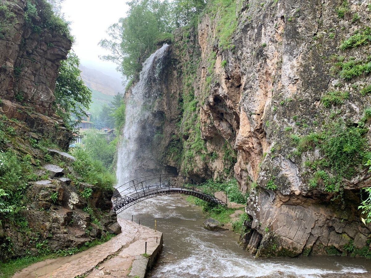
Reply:
M155 172L151 156L156 127L154 106L161 95L160 78L169 45L164 44L143 63L139 82L125 99L125 125L118 147L116 176L118 186Z

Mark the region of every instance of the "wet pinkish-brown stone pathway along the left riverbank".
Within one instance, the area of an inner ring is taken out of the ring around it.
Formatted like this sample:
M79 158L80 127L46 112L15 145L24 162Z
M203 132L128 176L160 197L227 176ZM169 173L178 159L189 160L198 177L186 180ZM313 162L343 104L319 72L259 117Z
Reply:
M151 254L158 246L156 237L160 243L162 233L122 218L117 220L122 233L110 241L76 255L30 265L13 278L74 278L84 274L94 278L128 277L135 256L144 254L145 242L147 254Z

